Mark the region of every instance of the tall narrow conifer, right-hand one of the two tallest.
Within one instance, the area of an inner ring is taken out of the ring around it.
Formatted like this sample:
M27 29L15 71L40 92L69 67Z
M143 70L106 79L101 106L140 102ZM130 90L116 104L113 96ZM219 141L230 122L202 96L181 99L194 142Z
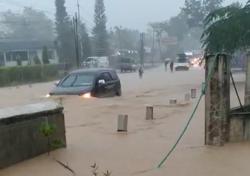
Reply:
M93 29L95 54L97 56L109 55L108 33L106 29L104 0L95 1L95 27Z

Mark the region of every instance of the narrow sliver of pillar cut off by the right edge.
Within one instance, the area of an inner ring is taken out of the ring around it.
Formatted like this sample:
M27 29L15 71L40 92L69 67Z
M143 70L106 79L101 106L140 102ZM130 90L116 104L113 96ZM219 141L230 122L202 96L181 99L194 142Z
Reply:
M250 105L250 51L247 52L246 61L245 105Z

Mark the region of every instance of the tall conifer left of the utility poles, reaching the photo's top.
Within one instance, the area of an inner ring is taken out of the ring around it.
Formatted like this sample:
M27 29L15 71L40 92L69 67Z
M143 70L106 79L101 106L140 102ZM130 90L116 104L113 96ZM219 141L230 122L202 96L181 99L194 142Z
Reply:
M61 62L75 64L73 29L66 11L65 0L55 0L57 49Z

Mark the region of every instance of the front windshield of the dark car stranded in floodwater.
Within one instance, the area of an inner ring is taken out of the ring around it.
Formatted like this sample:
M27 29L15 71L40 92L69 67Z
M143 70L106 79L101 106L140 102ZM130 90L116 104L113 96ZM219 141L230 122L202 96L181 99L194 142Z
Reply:
M81 73L68 76L61 84L61 87L82 87L91 86L94 81L94 74Z

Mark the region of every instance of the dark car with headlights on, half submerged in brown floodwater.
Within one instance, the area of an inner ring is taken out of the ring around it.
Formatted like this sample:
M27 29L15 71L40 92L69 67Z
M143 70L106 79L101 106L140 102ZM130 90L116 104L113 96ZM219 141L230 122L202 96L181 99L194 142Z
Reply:
M64 77L50 95L121 96L120 79L113 69L82 69Z

